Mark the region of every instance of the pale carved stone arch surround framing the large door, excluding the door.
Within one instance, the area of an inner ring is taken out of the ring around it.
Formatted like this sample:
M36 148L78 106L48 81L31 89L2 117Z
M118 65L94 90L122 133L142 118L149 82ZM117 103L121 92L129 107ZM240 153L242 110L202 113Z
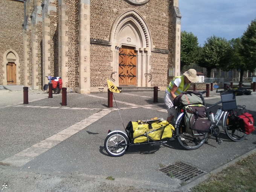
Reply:
M116 85L119 85L119 49L132 47L136 53L136 86L150 87L149 56L151 55L151 35L146 21L135 9L128 9L117 16L110 34L113 62L111 67Z

